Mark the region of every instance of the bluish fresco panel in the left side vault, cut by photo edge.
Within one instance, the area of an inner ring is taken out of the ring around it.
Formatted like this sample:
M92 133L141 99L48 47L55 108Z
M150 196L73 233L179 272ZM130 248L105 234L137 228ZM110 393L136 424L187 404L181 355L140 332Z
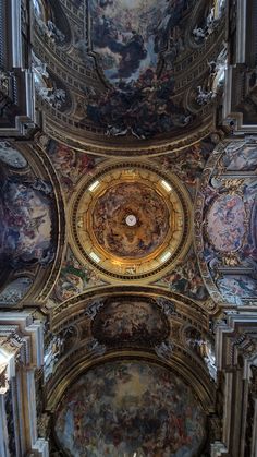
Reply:
M40 181L40 180L39 180ZM51 203L38 190L45 182L8 180L0 201L0 260L12 264L38 261L47 264L53 260Z

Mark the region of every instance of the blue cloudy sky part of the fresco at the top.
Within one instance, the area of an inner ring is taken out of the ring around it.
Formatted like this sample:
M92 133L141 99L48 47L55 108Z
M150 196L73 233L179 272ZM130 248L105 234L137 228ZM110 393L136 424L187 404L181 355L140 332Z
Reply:
M91 0L93 48L101 57L105 75L112 83L137 80L156 69L168 31L184 1L172 9L167 0Z

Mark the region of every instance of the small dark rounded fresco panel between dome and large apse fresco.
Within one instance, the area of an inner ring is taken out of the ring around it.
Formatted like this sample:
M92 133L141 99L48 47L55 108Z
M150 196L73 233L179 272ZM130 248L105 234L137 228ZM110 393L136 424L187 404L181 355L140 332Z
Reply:
M93 335L105 344L160 344L169 324L159 308L139 298L107 301L93 322Z

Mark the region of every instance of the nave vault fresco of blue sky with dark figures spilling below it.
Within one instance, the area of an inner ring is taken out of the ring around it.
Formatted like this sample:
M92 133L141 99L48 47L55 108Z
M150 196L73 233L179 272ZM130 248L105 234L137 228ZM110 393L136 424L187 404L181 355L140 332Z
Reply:
M140 140L185 128L193 121L183 104L173 99L172 61L164 72L157 70L158 63L163 67L161 52L173 34L178 51L183 49L179 23L187 7L188 1L166 0L158 4L155 0L89 3L93 49L113 85L100 99L89 97L90 121L110 134L128 133Z

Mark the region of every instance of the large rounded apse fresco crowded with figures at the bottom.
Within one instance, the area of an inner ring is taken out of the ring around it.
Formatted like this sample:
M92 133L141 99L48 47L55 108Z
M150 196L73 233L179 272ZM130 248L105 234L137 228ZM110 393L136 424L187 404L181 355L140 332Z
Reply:
M174 373L115 361L91 369L68 389L54 430L74 457L193 457L205 440L205 414Z

